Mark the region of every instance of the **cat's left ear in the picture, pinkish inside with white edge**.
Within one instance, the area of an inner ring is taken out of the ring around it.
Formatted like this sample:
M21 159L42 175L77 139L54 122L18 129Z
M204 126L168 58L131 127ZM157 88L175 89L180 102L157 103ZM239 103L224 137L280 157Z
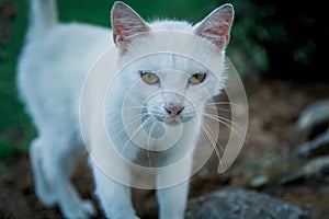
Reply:
M124 2L116 1L111 11L113 41L125 53L133 36L148 32L147 23Z

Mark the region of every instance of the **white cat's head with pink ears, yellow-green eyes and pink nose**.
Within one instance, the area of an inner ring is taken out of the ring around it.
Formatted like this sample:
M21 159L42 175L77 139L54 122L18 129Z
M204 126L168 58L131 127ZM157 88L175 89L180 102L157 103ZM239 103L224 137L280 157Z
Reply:
M222 73L232 18L231 4L224 4L195 25L146 23L125 3L114 4L112 27L120 66L128 84L135 87L132 100L145 114L177 124L203 112L207 99L224 88ZM215 64L219 76L204 62Z

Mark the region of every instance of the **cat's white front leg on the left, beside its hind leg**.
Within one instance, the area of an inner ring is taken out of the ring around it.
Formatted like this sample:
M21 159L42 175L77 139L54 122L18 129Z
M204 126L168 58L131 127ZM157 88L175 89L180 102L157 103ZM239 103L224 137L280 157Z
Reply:
M106 218L138 219L132 204L131 188L113 181L92 164L98 196ZM124 170L123 170L124 171Z

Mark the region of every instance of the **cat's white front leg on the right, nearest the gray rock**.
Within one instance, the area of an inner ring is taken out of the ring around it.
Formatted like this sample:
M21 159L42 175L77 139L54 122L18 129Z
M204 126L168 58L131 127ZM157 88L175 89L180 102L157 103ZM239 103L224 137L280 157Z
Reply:
M179 166L174 172L159 172L157 175L158 184L158 201L160 206L159 219L183 219L185 214L188 194L189 194L189 184L190 180L184 182L161 188L164 186L164 182L168 182L169 178L175 178L175 174L181 174L189 178L192 168L192 157L188 158L188 162L184 162L184 166Z

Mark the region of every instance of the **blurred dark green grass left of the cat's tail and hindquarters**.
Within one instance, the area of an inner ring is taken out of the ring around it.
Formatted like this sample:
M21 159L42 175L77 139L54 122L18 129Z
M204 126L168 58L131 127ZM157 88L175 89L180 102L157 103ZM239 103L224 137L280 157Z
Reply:
M3 0L0 3L4 2ZM8 2L8 1L7 1ZM10 160L19 151L26 151L35 136L30 118L23 112L15 85L16 60L26 28L27 1L14 3L15 15L10 24L10 38L0 45L0 159ZM1 27L0 27L1 28Z

